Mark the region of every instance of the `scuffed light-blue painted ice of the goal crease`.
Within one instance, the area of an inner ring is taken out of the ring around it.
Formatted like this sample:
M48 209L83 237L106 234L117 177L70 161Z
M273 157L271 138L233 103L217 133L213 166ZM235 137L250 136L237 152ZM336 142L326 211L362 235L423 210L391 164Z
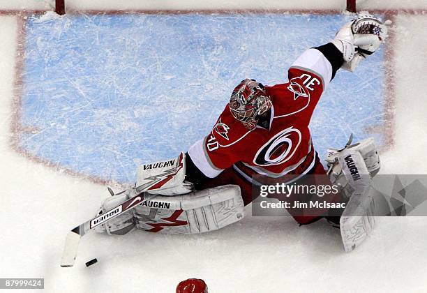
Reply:
M287 82L343 15L66 15L27 24L20 145L63 167L133 183L136 165L209 133L245 77ZM338 74L311 125L320 153L383 123L382 52ZM363 101L363 102L361 102ZM381 138L381 135L376 135Z

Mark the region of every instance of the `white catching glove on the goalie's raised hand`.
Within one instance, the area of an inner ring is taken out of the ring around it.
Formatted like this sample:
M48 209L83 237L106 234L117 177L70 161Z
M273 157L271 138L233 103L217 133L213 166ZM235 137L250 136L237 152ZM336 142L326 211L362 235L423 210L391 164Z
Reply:
M388 36L390 20L382 22L369 14L359 15L336 33L333 43L343 53L343 69L354 71L356 66L375 52Z

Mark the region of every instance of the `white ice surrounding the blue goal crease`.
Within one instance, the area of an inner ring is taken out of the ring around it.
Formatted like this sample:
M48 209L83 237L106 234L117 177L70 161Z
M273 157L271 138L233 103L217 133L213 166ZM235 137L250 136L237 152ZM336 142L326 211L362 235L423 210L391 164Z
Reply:
M10 149L18 19L0 17L1 278L45 278L45 292L167 293L185 278L203 278L209 292L226 293L425 292L425 217L381 218L349 254L326 223L298 227L290 218L248 217L193 236L88 234L76 266L60 268L66 232L90 218L107 191ZM420 48L427 46L427 17L400 13L394 24L394 147L382 153L383 170L425 174L427 57ZM98 263L86 268L93 257Z

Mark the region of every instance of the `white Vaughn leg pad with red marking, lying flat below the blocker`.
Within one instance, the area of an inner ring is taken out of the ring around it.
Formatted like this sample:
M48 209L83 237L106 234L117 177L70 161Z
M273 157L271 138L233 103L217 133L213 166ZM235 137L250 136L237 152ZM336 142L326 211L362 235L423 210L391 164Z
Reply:
M134 210L137 229L166 234L218 230L245 216L237 185L207 188L174 197L158 195Z

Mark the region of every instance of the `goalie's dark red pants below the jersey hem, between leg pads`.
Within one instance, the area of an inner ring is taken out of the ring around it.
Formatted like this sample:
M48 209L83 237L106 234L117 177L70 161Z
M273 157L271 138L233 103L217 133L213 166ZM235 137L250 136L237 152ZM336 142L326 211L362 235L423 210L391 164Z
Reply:
M306 175L323 175L323 176L306 176ZM298 179L296 181L297 184L304 184L307 186L318 186L320 184L325 185L329 184L331 185L331 181L329 181L327 177L327 173L324 170L324 167L322 163L320 163L320 159L316 154L315 158L315 164L311 168L311 170L304 176L301 177L301 179ZM236 184L240 186L241 189L241 197L244 200L245 206L250 204L255 198L253 198L253 184L248 181L248 179L245 179L244 176L239 174L236 170L234 170L233 167L230 167L228 169L225 169L221 174L216 176L213 179L210 179L206 183L203 183L202 186L199 186L197 189L204 189L204 188L212 188L216 186L222 186L225 184ZM257 188L257 186L254 185L254 188ZM255 195L259 195L259 191L255 190ZM313 195L301 195L301 194L290 194L286 197L280 197L280 196L268 196L268 197L274 197L278 200L285 200L286 202L290 202L291 206L293 206L293 202L299 201L299 202L308 202L310 198L313 198ZM317 200L320 200L320 197L317 197ZM338 195L324 195L324 197L321 198L322 202L340 202L341 197L340 194ZM297 221L297 223L301 225L307 225L310 223L315 222L316 220L320 220L323 216L326 216L326 213L328 212L327 209L287 209L287 211L291 214L291 216ZM307 216L304 216L307 215Z

